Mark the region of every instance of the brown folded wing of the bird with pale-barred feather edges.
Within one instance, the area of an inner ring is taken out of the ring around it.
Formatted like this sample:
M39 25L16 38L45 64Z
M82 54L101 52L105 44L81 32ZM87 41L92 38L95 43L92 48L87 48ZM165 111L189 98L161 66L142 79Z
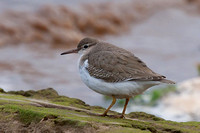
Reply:
M87 70L90 75L107 82L157 81L165 78L153 72L139 58L123 49L93 53L88 57L88 63Z

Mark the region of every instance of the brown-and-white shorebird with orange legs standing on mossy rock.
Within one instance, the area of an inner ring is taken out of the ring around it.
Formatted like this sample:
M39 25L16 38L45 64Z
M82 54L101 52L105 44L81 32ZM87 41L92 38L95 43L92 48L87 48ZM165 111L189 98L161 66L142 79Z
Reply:
M131 97L142 94L155 85L175 84L152 71L133 53L95 38L85 37L75 49L61 55L71 53L80 55L79 73L86 86L97 93L112 97L112 103L101 116L108 116L116 99L126 99L123 111L118 116L125 118Z

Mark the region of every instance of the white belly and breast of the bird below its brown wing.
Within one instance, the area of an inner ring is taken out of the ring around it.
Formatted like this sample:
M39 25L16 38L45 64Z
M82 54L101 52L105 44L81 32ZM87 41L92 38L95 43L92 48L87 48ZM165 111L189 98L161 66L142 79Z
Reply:
M81 79L90 89L103 95L115 96L116 98L128 98L141 94L149 87L160 83L155 81L123 81L108 83L90 76L85 68L87 66L87 60L84 62L83 66L79 66Z

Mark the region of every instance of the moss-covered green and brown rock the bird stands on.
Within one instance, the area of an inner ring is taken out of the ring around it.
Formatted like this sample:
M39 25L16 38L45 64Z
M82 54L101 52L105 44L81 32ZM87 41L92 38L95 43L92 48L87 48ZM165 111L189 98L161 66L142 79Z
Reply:
M37 98L37 100L32 98ZM59 96L55 90L50 88L39 91L4 92L3 95L0 95L0 131L72 133L200 132L200 122L166 121L144 112L132 112L126 115L126 119L99 116L98 114L103 113L104 110L99 106L89 106L79 99ZM110 111L109 115L118 115L118 113Z

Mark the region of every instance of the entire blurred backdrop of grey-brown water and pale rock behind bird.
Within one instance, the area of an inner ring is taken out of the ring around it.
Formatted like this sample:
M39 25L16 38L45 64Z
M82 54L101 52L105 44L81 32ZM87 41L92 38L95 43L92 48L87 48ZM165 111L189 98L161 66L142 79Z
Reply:
M0 10L0 88L52 87L60 95L107 107L109 98L81 82L78 55L60 56L92 36L132 51L177 82L149 89L130 102L127 113L200 121L199 0L6 0ZM120 102L113 110L121 112Z

